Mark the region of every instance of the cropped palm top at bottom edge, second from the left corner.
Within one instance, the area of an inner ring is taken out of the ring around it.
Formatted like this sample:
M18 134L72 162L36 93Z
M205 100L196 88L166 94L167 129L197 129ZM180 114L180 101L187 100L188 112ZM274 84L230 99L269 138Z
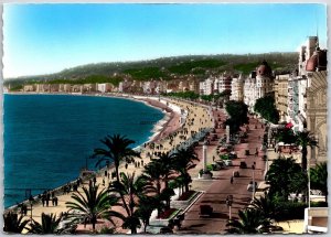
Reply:
M41 224L32 219L29 233L31 234L58 234L58 224L62 220L62 215L56 218L56 215L44 214L41 216Z

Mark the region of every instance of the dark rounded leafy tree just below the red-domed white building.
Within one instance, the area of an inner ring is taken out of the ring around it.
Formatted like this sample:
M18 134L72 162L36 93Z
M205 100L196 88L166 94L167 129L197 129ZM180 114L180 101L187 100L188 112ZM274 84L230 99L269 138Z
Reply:
M268 95L258 98L254 105L254 111L258 112L263 118L277 125L279 121L279 114L277 111L275 98L273 96Z

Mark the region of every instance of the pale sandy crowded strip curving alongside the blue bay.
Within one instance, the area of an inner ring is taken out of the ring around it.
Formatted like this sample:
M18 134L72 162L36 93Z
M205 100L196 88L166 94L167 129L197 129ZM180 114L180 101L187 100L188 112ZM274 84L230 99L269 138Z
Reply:
M145 103L148 103L149 105L153 107L158 107L169 115L169 120L166 121L161 129L157 131L157 134L153 136L152 140L149 141L149 143L153 142L156 146L156 149L151 149L149 146L141 146L141 160L143 164L147 164L150 162L150 158L147 155L148 153L153 153L156 151L167 152L173 149L174 147L179 146L181 142L185 141L190 138L190 136L194 132L199 132L203 128L213 128L214 122L212 117L210 117L211 114L209 114L209 109L202 106L189 104L186 101L180 101L180 100L169 100L169 99L161 99L161 101L158 101L156 98L139 98L139 100L143 100ZM168 101L168 105L164 104ZM183 111L186 112L184 121L181 120L181 115L177 111L173 111L172 108L180 108ZM186 134L185 131L191 131L191 134ZM170 139L170 137L172 139ZM157 149L159 148L159 149ZM137 160L138 161L138 160ZM143 168L140 165L139 168L136 168L135 164L125 165L125 163L121 163L119 166L120 172L125 173L136 173L136 176L141 174ZM114 171L113 168L109 168L107 171L108 173L111 173ZM105 183L105 187L109 184L111 180L108 180L107 176L104 175L105 170L100 170L97 172L97 184L99 184L102 187ZM88 183L84 183L84 185L88 185ZM82 187L78 187L78 192L82 192ZM42 213L53 213L60 215L61 213L67 212L67 207L65 205L66 202L71 201L71 194L63 194L58 193L56 194L58 198L57 206L53 206L50 204L49 206L43 206L41 201L36 202L32 206L32 217L36 222L40 222L40 217ZM28 204L28 202L26 202ZM30 205L28 204L28 207ZM115 208L115 207L114 207ZM117 208L117 207L116 207ZM116 209L115 208L115 209ZM117 208L117 211L120 211ZM29 209L26 218L30 218L31 211ZM98 223L97 229L104 226L105 223ZM118 220L117 226L120 226L120 223ZM92 226L87 225L86 228L84 228L84 225L79 225L77 230L78 233L84 233L88 229L90 229ZM117 231L119 233L127 233L127 229L118 228Z

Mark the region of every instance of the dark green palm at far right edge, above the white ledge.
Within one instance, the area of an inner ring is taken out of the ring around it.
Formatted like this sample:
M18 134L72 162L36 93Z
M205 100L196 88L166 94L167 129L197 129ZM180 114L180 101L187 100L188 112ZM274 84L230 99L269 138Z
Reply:
M310 170L310 185L312 188L320 190L328 202L328 166L327 162L317 164Z

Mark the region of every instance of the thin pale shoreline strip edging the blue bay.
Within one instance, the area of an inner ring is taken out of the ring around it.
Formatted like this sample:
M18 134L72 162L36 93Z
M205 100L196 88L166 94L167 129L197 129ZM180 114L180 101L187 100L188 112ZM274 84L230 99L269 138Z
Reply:
M156 122L153 125L153 128L150 130L151 136L148 137L147 141L145 141L141 144L138 144L136 148L134 148L134 150L138 150L138 151L140 151L143 148L143 144L151 143L151 142L157 142L160 138L162 138L162 132L164 132L167 130L167 125L171 123L171 121L173 119L175 119L175 112L172 109L170 109L167 105L164 105L160 101L151 103L149 100L151 97L148 97L148 96L141 96L141 98L135 98L134 96L120 96L120 95L113 95L113 94L106 94L106 95L103 95L103 94L65 94L65 93L64 94L62 94L62 93L6 93L6 94L7 95L19 95L19 96L20 95L45 95L45 96L47 96L47 95L50 95L50 96L64 95L64 96L89 96L89 97L104 97L104 98L120 98L120 99L129 99L129 100L132 100L132 101L142 103L146 106L149 106L149 107L152 107L157 110L160 110L163 114L163 118L160 119L158 122ZM164 108L168 108L171 111L170 112L166 111ZM110 164L110 166L111 166L111 164ZM96 175L98 173L102 173L104 170L105 170L105 166L95 170ZM81 173L78 173L77 175L79 176ZM66 186L67 184L73 184L76 181L77 181L77 179L65 182L64 184L62 184L60 186L56 186L54 188L50 188L50 192L58 193L58 192L61 192L61 190L64 186ZM42 194L42 192L40 194ZM38 196L40 194L36 194L36 195L33 196L34 201L39 201ZM3 194L3 197L4 197L4 194ZM29 200L21 201L21 202L14 204L14 205L9 206L9 207L3 206L4 212L17 209L19 207L19 205L21 205L21 204L25 204L25 205L29 206Z

